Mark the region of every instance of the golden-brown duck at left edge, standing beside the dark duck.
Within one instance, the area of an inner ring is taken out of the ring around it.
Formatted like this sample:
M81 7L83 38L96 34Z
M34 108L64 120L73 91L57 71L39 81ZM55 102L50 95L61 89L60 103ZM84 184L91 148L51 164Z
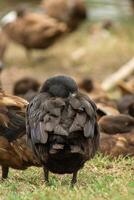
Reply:
M24 170L39 166L37 158L26 144L25 111L28 102L0 91L0 165L2 178L9 168Z

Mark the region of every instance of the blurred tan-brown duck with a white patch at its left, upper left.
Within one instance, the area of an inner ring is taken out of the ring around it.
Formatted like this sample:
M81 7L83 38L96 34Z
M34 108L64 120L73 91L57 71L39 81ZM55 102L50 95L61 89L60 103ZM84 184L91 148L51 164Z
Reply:
M1 21L7 36L26 50L48 48L67 31L64 23L23 8L9 13Z

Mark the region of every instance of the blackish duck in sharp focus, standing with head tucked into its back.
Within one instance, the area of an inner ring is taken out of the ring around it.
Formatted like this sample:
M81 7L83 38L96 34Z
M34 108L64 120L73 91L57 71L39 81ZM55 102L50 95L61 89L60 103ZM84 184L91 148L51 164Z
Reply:
M52 77L28 106L27 136L42 163L45 181L49 171L72 173L74 185L79 169L99 146L96 106L79 93L72 78Z

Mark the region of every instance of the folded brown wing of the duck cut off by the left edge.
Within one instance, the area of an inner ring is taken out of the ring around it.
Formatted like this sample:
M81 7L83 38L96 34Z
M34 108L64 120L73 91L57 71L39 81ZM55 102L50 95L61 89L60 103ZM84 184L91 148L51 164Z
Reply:
M0 92L0 136L13 141L25 134L25 111L28 102Z

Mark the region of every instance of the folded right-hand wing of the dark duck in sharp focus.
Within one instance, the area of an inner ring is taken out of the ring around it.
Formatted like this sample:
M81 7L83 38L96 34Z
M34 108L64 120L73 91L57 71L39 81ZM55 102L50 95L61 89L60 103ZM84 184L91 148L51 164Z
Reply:
M69 129L69 132L83 130L86 138L93 138L96 121L96 106L94 103L87 97L73 96L71 97L70 105L73 107L73 109L75 109L76 116Z

